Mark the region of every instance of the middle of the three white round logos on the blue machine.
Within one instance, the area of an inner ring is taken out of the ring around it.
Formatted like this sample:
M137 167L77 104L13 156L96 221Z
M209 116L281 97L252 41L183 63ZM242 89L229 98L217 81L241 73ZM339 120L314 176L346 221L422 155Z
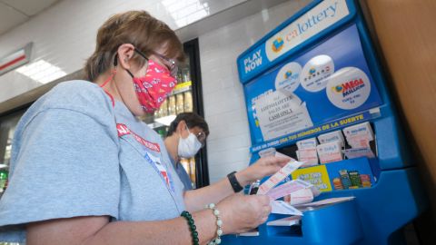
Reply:
M322 91L332 73L334 73L332 58L325 54L317 55L302 68L302 87L312 93Z

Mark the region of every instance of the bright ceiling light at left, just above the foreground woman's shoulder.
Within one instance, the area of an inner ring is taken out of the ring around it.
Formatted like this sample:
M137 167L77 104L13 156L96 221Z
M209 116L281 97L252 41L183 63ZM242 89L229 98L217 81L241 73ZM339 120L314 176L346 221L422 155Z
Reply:
M45 60L39 60L35 63L24 65L16 69L16 72L22 73L38 83L50 83L66 75L61 68Z

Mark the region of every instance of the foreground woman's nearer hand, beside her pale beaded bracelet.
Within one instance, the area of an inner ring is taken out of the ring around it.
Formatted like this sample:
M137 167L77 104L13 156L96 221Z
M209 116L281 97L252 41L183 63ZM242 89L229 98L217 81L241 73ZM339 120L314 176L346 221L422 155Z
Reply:
M217 204L224 234L253 230L268 219L270 198L264 195L233 194Z

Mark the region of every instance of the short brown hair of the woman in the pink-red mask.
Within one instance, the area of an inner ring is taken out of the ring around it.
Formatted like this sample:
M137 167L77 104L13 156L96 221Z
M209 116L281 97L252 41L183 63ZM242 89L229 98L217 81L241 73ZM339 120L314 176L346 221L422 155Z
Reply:
M84 65L86 79L94 82L98 75L114 64L121 44L133 44L146 55L165 45L165 56L184 59L183 45L172 29L145 11L128 11L113 15L98 29L94 54ZM144 65L144 58L134 54L134 61Z

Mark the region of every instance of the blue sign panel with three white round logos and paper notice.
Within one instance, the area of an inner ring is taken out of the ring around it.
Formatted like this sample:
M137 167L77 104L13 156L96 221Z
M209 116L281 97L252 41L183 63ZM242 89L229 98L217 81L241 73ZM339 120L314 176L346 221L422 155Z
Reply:
M344 75L347 72L351 74ZM338 79L332 81L335 73ZM305 103L313 128L381 105L356 25L245 84L246 103L251 105L247 106L247 110L253 145L265 142L263 133L268 133L261 132L257 115L262 113L263 108L256 108L256 99L281 88L298 98L298 103ZM273 116L274 109L272 113L266 113ZM288 122L282 122L282 125L292 123L292 120L295 117L289 117ZM309 128L311 126L305 129ZM281 136L284 135L278 135Z

